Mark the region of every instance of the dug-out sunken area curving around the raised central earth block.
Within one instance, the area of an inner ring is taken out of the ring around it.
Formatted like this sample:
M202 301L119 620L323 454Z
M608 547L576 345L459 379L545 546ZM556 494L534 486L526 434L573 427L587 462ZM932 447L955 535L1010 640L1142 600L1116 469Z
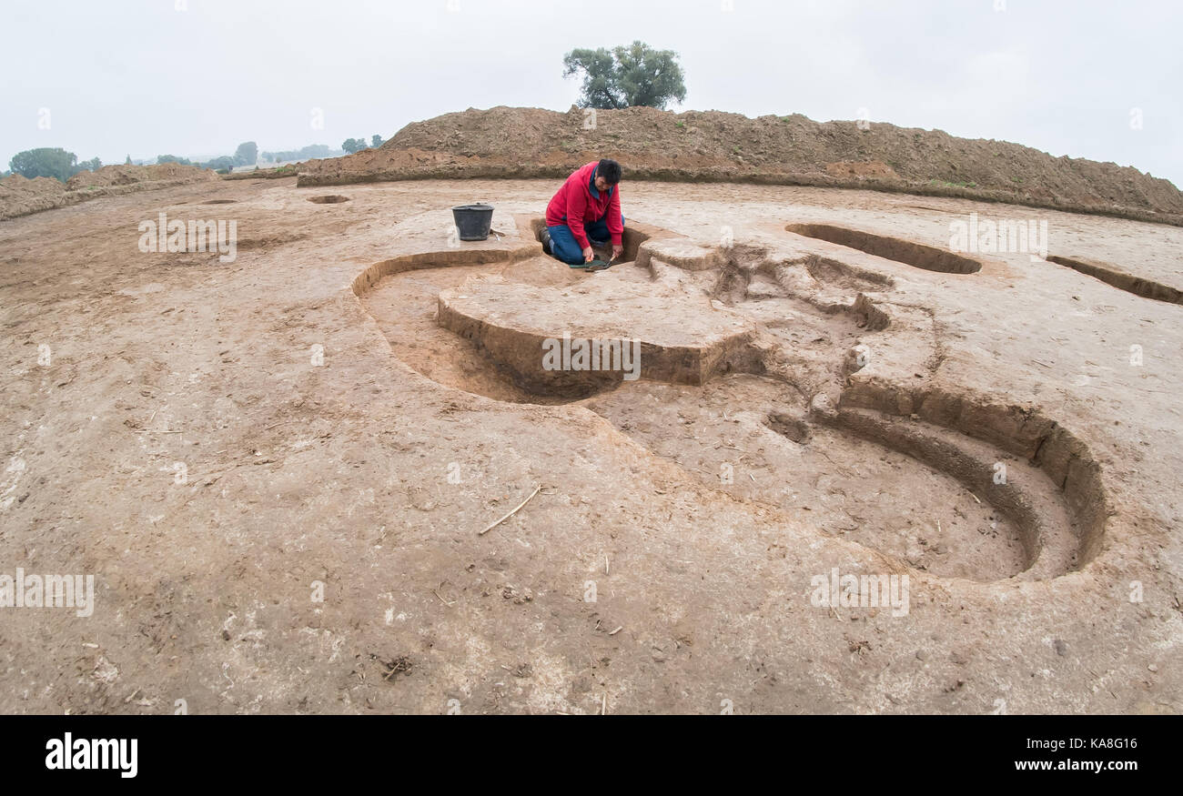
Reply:
M538 222L530 222L535 237ZM645 240L634 238L627 255L648 261ZM881 287L881 279L816 258L770 264L758 252L741 250L744 258L745 266L731 263L712 279L716 296L794 318L780 326L768 323L759 339L744 343L762 357L761 367L728 369L699 386L662 383L660 376L618 380L594 395L539 387L499 361L504 341L491 339L512 337L512 329L478 323L465 338L440 325L440 292L491 271L549 289L595 278L573 277L534 241L384 260L355 279L354 292L395 356L439 383L503 401L582 402L689 477L743 499L816 512L823 532L907 565L975 581L1042 580L1095 557L1107 501L1099 467L1071 433L1029 408L847 378L855 370L852 342L888 330L890 308L875 306L862 293L846 305L802 297L794 292L802 284L796 272L813 283L845 280L846 287ZM812 352L801 345L802 335L814 335ZM765 364L767 374L758 375ZM820 388L839 382L836 407L826 400L810 405ZM1004 465L1003 480L998 465Z

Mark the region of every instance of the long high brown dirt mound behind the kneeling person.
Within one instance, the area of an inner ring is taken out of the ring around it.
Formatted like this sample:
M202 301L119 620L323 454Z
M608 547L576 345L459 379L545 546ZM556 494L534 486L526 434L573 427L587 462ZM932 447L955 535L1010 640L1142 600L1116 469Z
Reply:
M1183 225L1183 193L1136 168L940 130L801 115L748 118L653 108L470 109L414 122L379 149L300 167L300 186L448 177L558 177L616 157L634 180L872 188Z

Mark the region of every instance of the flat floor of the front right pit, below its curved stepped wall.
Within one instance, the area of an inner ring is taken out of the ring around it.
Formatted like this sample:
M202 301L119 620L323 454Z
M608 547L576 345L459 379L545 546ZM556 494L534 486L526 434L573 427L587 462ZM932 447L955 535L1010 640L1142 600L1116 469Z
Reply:
M586 406L705 484L917 569L996 581L1027 568L1020 530L957 479L836 429L770 422L795 403L784 386L738 375L700 389L632 384Z

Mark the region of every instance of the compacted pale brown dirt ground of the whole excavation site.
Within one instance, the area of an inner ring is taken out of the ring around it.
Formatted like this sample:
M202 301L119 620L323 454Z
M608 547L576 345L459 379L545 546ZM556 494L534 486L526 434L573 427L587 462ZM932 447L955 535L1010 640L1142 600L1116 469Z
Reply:
M95 578L0 607L0 710L1183 710L1183 229L627 182L584 273L552 181L295 183L0 225L0 602Z

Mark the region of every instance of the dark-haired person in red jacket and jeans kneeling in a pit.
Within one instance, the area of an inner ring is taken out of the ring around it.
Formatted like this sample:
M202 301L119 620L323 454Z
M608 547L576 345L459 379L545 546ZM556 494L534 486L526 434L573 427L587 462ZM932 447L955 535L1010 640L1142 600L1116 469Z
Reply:
M583 266L595 259L592 244L612 241L612 259L625 252L620 214L620 163L603 158L578 169L547 206L543 247L563 263Z

